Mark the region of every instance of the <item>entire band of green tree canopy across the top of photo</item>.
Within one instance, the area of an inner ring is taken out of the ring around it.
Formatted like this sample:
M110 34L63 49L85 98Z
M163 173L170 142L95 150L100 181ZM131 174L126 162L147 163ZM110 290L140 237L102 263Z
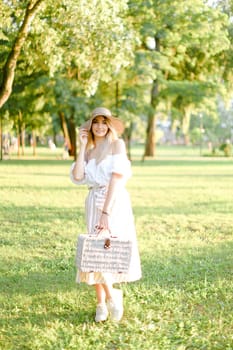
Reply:
M158 113L188 135L191 114L231 95L232 8L230 0L4 0L0 113L20 115L31 130L62 116L69 132L105 104L125 119L126 137L135 123L147 130L145 156L153 155Z

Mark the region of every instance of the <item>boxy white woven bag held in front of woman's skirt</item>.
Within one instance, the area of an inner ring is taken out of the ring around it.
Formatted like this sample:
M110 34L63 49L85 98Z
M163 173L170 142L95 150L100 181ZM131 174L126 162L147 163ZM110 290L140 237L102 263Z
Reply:
M82 272L128 273L132 242L109 236L78 236L76 266Z

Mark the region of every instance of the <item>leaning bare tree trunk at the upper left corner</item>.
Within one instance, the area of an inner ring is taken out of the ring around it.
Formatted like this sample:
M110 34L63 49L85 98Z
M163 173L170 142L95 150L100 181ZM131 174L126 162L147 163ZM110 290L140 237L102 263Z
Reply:
M28 36L31 23L42 2L43 0L37 0L35 4L32 4L32 1L30 1L26 8L23 23L19 29L18 36L16 37L12 50L10 51L7 61L3 67L3 78L0 86L0 108L6 103L11 95L17 60L19 58L22 46Z

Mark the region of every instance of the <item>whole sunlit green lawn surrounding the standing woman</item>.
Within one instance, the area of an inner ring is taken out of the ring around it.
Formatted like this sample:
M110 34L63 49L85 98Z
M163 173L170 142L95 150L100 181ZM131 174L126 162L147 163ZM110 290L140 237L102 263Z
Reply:
M127 188L143 278L121 286L119 324L95 324L94 289L74 282L87 190L71 160L0 162L1 349L233 349L233 160L140 152Z

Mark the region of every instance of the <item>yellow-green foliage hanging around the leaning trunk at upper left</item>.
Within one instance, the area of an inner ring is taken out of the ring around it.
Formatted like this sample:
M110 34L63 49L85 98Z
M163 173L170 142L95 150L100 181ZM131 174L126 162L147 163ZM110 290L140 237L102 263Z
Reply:
M9 48L25 4L2 5L8 20L0 29ZM80 124L91 108L86 97L95 94L100 81L110 81L134 57L136 36L124 20L126 11L125 0L97 2L95 6L83 1L54 6L53 1L44 1L18 62L14 97L5 106L12 118L16 120L22 113L24 123L31 120L30 128L37 130L42 120L44 126L48 123L48 113L56 129L58 113L73 116ZM2 65L8 53L4 48Z

